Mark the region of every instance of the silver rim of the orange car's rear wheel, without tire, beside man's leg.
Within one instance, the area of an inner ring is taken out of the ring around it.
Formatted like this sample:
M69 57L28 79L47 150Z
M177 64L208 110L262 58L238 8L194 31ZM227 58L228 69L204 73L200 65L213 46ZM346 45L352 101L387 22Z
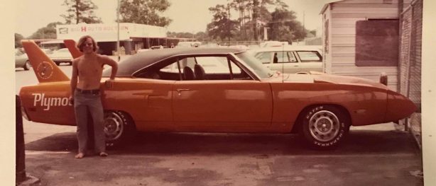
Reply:
M104 114L104 134L107 141L119 139L124 132L124 120L116 112Z

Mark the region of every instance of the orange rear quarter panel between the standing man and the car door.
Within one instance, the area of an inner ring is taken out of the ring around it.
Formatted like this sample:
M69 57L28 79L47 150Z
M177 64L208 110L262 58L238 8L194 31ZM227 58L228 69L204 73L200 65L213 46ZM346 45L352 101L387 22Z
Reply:
M160 79L122 79L113 88L104 88L106 110L123 110L133 118L138 131L168 131L171 118L174 81Z

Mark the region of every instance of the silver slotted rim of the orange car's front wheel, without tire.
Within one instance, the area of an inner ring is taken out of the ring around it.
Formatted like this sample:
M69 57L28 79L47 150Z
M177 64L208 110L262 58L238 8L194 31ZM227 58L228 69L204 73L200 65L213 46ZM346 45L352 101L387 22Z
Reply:
M339 134L339 119L333 112L321 110L309 120L309 131L318 141L331 141Z

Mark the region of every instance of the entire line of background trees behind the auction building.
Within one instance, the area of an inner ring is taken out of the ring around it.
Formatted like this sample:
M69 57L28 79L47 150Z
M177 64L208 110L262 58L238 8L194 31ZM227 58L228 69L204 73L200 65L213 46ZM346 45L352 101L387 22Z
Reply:
M166 11L170 5L168 0L121 0L119 22L165 27L172 20L160 16L160 13ZM95 16L94 11L98 7L91 0L64 0L62 6L67 7L65 14L60 15L65 20L63 23L48 23L27 38L16 33L16 47L21 47L20 41L23 39L55 39L56 25L103 23L101 18ZM271 7L273 11L268 10ZM209 8L213 17L205 32L168 32L167 35L195 38L199 41L246 41L261 40L264 37L263 30L267 30L268 40L292 42L314 32L303 28L296 20L295 12L288 8L281 0L228 0L227 4L217 4Z

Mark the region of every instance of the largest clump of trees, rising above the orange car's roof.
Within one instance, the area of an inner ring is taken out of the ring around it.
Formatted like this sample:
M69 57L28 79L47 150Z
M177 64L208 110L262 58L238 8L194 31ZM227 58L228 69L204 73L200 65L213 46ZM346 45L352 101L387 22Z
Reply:
M217 4L209 8L213 18L207 24L207 33L217 41L263 40L266 30L267 40L301 40L310 31L288 8L281 0L231 0Z

